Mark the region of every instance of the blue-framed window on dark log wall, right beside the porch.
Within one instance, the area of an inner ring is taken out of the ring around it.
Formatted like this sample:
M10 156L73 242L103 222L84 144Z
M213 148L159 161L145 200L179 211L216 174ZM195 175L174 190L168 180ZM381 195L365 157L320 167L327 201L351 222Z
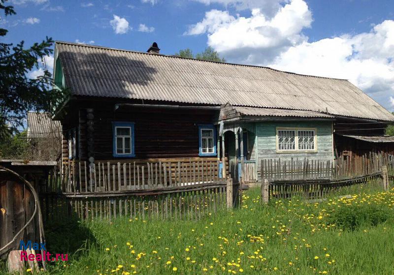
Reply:
M199 156L216 155L216 127L212 124L198 125Z

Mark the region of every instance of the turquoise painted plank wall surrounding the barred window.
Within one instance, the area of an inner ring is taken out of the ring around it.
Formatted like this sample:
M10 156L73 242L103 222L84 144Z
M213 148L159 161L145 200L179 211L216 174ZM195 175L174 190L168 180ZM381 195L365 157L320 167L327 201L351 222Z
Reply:
M276 152L276 127L306 127L317 129L316 153L277 153ZM283 160L304 158L331 160L332 161L332 135L331 122L257 122L257 155L260 168L264 158L281 158Z

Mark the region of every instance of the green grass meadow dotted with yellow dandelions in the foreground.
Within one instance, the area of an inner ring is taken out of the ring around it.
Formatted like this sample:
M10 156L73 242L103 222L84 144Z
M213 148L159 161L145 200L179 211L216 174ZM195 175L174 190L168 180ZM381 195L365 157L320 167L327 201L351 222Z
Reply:
M339 198L342 193L353 196ZM259 195L259 189L244 192L241 209L199 221L67 222L47 233L47 245L68 250L70 260L48 272L394 274L394 189L351 186L313 203L261 205Z

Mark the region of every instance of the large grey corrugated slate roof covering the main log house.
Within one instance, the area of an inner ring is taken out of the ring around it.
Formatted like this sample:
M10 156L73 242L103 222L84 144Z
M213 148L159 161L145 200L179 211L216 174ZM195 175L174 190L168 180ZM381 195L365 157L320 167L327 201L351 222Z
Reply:
M308 110L394 121L394 116L347 80L267 67L56 42L74 95L181 103Z

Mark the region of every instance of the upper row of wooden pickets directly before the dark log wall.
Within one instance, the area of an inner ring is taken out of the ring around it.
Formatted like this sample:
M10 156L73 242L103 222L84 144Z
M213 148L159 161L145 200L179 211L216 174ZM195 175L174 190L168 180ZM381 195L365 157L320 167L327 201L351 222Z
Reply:
M153 189L218 182L218 159L159 162L72 161L64 166L60 189L64 193L91 193Z

